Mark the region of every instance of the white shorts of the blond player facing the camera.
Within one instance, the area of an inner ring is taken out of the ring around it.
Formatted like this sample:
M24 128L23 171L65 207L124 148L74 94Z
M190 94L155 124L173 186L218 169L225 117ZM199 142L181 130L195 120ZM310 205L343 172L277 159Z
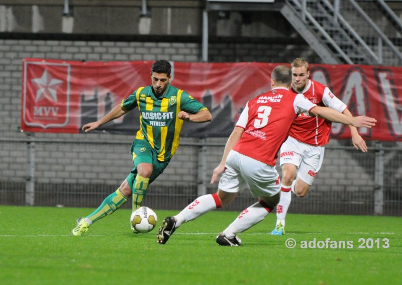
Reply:
M321 168L324 147L305 144L292 137L280 147L279 164L291 163L298 167L297 176L307 184L313 184L314 177Z

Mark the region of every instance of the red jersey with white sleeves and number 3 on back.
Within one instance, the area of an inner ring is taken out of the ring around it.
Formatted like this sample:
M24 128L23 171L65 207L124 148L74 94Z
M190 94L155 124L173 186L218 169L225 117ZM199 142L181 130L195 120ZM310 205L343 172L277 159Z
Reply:
M294 119L314 107L302 94L282 87L260 94L247 102L236 123L245 131L233 150L275 166Z

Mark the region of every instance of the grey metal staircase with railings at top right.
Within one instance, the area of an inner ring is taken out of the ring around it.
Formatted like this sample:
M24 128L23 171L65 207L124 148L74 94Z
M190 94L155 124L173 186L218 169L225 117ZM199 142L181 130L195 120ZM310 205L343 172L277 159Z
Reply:
M313 48L324 60L331 58L327 54L330 51L336 63L402 63L402 44L391 40L397 37L402 24L383 1L286 0L286 5L287 17L300 18L306 25L298 31L307 42L312 37L320 42L322 46ZM379 18L378 10L384 13Z

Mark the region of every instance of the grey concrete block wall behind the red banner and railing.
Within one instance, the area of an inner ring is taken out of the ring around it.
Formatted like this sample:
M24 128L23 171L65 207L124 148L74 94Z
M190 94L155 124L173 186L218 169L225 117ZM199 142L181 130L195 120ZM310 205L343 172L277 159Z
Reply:
M0 39L0 180L25 181L27 176L27 146L17 140L26 138L19 132L21 120L22 59L28 57L63 60L155 60L200 61L198 43L111 42L111 41L62 41L62 40L7 40ZM272 44L215 44L210 47L211 61L269 61L290 62L304 56L311 62L321 63L308 47ZM132 90L127 90L129 94ZM108 134L35 134L37 139L63 140L61 144L36 143L35 178L40 183L99 183L117 187L132 168L130 144L132 136ZM87 145L73 143L79 140L125 142L119 145ZM196 139L182 138L181 142L194 143ZM210 143L225 144L226 138L209 138ZM333 144L338 145L337 141ZM219 163L222 147L207 151L207 177ZM344 153L345 152L345 153ZM198 149L180 146L165 172L154 185L176 183L197 184ZM345 167L348 165L348 167ZM356 166L352 166L356 165ZM371 170L370 170L371 171ZM328 155L314 187L344 189L342 185L369 186L373 177L367 169L350 160L346 151ZM216 185L209 191L215 191Z

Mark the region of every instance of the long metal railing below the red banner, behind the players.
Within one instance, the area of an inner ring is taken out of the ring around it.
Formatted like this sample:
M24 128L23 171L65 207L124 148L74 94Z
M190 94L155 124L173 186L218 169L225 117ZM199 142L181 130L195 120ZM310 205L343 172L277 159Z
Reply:
M106 137L1 138L0 204L97 207L132 167L128 153L132 138ZM149 186L146 205L182 209L200 195L215 193L217 184L209 180L225 142L225 138L182 139L165 172ZM369 152L361 153L347 142L330 142L309 194L293 198L289 212L401 216L400 144L372 142ZM244 191L223 210L241 211L254 202Z

